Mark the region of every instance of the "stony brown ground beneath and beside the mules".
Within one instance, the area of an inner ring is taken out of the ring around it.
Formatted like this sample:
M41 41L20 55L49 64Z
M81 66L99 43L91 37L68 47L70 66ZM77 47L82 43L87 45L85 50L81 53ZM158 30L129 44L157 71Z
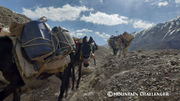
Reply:
M79 89L70 90L64 101L180 100L180 50L131 51L126 58L118 59L101 47L96 58L97 66L83 67ZM58 78L36 82L40 84L22 95L29 100L22 101L57 100Z

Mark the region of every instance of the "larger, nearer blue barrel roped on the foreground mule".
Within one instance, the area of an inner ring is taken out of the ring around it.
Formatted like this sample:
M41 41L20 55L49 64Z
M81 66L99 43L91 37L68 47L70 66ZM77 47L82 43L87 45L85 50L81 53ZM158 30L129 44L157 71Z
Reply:
M31 60L44 59L55 52L55 40L45 23L40 21L31 21L24 26L21 41Z

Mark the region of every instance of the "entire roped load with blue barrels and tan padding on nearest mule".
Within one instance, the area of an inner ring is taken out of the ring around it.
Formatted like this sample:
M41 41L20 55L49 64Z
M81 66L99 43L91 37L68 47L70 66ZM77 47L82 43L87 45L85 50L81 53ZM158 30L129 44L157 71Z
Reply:
M69 31L61 27L51 30L46 21L42 17L37 21L10 27L13 35L16 36L18 31L18 35L11 40L14 44L14 59L25 83L42 72L63 72L71 61L69 54L74 50L75 43ZM21 32L18 30L19 26L22 26ZM23 51L28 59L22 55Z

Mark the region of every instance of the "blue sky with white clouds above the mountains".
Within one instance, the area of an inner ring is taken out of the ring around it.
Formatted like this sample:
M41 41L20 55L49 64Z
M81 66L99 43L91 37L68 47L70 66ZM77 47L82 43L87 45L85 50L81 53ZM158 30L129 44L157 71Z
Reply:
M0 0L0 6L32 20L46 16L51 28L66 28L78 38L92 36L98 45L107 44L111 35L180 16L180 0Z

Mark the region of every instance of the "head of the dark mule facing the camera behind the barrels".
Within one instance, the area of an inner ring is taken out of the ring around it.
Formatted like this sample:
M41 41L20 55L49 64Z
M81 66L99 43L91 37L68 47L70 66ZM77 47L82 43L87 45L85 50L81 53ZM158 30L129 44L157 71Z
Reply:
M81 46L81 58L83 60L84 67L89 66L89 60L92 55L92 42L92 37L90 37L89 41L87 41L87 36L83 38L83 43Z

